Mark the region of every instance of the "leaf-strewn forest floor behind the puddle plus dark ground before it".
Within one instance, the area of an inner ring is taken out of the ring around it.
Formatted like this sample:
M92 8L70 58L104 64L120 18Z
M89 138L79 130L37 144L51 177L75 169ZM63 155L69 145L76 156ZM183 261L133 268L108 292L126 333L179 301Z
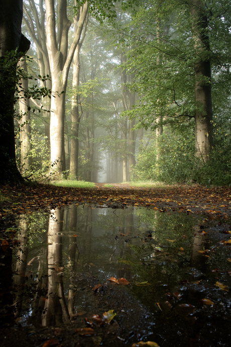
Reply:
M45 184L33 186L0 186L1 242L3 239L6 239L5 231L14 225L17 215L30 214L39 210L49 212L51 209L73 203L76 205L110 207L114 209L126 208L132 205L146 207L162 213L198 214L206 216L207 219L218 221L220 225L227 223L226 229L231 229L229 225L231 216L231 189L229 187L206 188L199 185L175 185L160 188L139 188L131 187L127 184L112 185L112 188L107 188L104 187L104 184L96 184L95 188L91 189L64 188ZM12 241L10 239L8 241L11 245ZM83 279L83 281L88 280ZM81 283L81 285L84 285L84 283ZM88 337L76 333L75 329L77 327L86 327L86 322L83 322L83 319L81 320L82 323L79 323L80 317L77 317L70 324L60 327L36 329L34 326L9 325L2 327L1 344L8 347L14 345L17 340L18 347L109 346L111 343L115 346L131 346L134 341L144 339L144 336L146 340L153 340L150 333L153 329L153 313L137 301L132 294L121 289L121 287L109 286L105 288L105 291L106 293L104 294L106 295L110 293L107 296L107 301L105 301L105 296L94 296L94 312L99 312L104 309L104 306L106 310L109 301L111 303L110 307L113 307L115 310L123 308L121 311L126 312L126 321L125 315L121 315L119 317L120 319L113 320L110 324L105 324L103 327L95 323L88 323L96 331L96 335L92 334ZM89 296L93 297L94 294L91 289L88 291ZM224 302L224 299L222 301ZM183 317L182 324L189 323L188 321L186 323L184 321L185 319ZM162 324L163 322L160 323ZM140 335L139 331L141 332ZM205 344L198 343L198 339L196 338L195 341L192 340L190 342L190 346L210 346L210 344L206 344L206 341L203 343Z

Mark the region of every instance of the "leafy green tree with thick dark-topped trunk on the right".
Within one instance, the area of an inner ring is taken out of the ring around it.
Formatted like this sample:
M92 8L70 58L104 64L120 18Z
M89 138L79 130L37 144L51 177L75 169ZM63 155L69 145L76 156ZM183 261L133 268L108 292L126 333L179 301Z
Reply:
M139 8L134 27L123 37L126 45L133 43L126 66L136 71L133 88L140 96L129 114L152 130L193 119L201 165L212 148L212 89L220 82L226 95L231 91L230 18L227 1L151 0Z

